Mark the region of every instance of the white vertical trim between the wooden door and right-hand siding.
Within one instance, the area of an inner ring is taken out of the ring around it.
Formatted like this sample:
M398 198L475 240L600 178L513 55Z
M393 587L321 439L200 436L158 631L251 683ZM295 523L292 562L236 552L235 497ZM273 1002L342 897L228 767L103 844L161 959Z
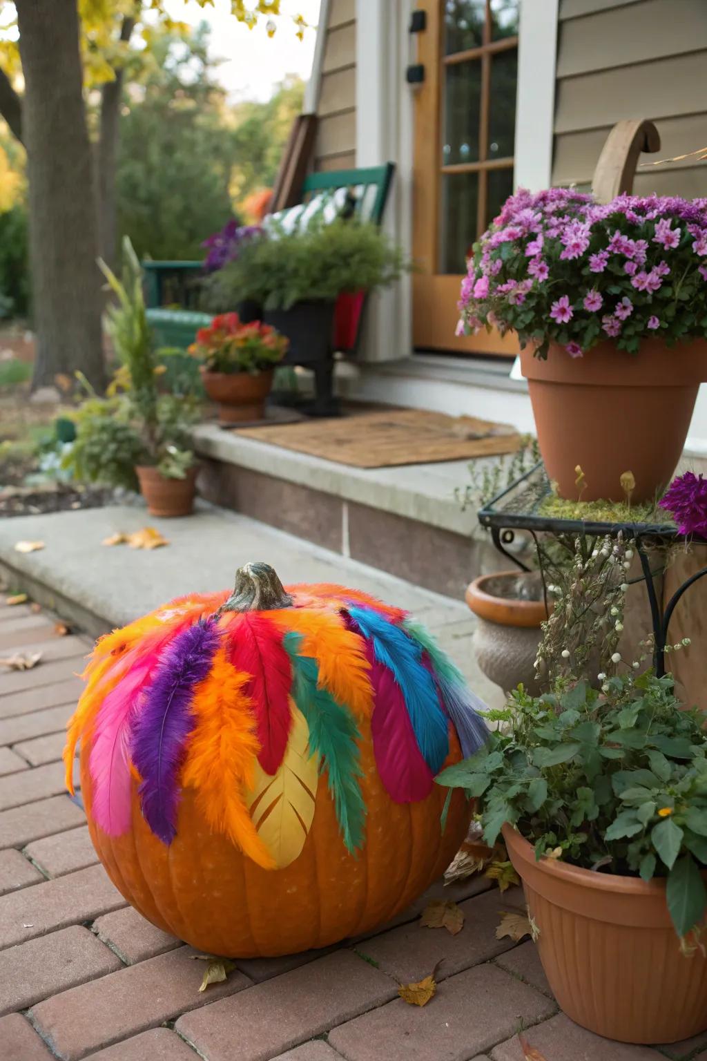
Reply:
M558 13L559 0L520 0L514 184L531 191L552 179Z

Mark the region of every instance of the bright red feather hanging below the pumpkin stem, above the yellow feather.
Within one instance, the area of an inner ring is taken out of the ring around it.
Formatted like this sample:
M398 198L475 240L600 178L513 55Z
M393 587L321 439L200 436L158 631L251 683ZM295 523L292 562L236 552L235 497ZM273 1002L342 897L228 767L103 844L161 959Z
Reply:
M244 692L255 712L261 751L258 761L266 773L276 773L285 755L293 725L289 688L293 675L282 633L269 620L240 615L228 626L230 659L236 671L250 675Z

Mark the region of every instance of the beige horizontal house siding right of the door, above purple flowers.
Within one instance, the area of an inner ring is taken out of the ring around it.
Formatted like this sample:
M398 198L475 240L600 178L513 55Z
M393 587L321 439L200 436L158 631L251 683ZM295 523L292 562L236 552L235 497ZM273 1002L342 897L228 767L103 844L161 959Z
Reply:
M561 0L552 184L589 184L623 118L655 122L661 158L707 145L706 65L705 0ZM634 191L705 195L707 167L639 168Z

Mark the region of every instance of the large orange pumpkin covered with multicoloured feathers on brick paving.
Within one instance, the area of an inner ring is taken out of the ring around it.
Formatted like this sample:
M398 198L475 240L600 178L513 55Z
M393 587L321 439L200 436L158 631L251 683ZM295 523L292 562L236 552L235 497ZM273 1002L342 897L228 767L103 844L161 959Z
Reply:
M470 818L435 776L483 742L457 668L404 611L265 563L101 638L69 723L91 838L145 918L233 957L388 920ZM445 805L445 799L447 800Z

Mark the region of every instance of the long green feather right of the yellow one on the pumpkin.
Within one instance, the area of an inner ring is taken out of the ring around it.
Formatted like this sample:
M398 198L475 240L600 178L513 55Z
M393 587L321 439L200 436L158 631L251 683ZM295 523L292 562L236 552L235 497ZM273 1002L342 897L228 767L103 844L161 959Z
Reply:
M319 772L326 769L341 837L353 854L364 843L366 819L358 782L363 777L356 744L360 733L349 710L319 686L316 660L299 655L303 640L295 632L286 633L283 640L293 668L293 698L310 729L310 748L319 756Z

